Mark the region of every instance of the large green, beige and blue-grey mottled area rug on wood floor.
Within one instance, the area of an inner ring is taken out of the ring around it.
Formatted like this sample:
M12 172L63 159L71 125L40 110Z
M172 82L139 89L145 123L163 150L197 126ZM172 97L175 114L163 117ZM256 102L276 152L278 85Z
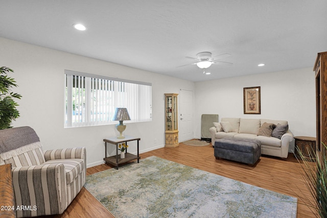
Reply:
M87 176L85 188L120 217L296 217L297 199L151 156Z

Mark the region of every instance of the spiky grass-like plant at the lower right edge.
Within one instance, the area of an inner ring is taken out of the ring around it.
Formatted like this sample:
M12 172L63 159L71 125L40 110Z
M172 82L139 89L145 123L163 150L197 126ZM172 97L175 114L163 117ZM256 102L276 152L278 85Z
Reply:
M321 143L321 146L324 146L324 150L327 151L325 144ZM315 199L315 201L307 199L306 204L315 214L319 214L320 217L327 217L327 154L321 152L321 157L318 158L315 150L308 150L310 161L306 159L300 149L297 148L297 151L299 154L298 161L301 163L301 174Z

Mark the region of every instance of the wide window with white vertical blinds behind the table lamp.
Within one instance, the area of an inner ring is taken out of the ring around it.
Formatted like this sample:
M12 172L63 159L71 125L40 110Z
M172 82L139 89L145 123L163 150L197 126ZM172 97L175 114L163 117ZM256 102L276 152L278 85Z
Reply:
M65 70L65 127L106 125L116 107L129 122L152 120L152 85L140 81Z

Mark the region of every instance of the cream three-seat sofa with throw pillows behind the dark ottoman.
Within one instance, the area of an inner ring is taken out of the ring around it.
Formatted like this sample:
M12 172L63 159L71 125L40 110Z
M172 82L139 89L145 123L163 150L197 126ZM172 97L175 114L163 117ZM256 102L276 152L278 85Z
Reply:
M289 143L293 140L293 134L288 131L288 122L285 120L222 118L220 123L214 125L209 128L213 146L217 140L225 137L255 139L261 142L261 154L287 158ZM275 130L274 137L265 132L267 128L264 127L267 126L269 126L268 132L270 128L271 131ZM281 131L281 127L287 131Z

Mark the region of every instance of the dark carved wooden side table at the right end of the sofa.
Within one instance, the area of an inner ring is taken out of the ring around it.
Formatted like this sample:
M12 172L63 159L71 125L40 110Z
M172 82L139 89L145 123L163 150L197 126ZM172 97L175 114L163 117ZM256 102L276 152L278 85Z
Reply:
M312 156L314 154L309 155L309 152L316 152L316 138L315 137L294 137L295 139L295 151L294 155L297 158L300 158L300 155L297 151L297 148L302 152L303 156L309 161L314 160L315 156Z

